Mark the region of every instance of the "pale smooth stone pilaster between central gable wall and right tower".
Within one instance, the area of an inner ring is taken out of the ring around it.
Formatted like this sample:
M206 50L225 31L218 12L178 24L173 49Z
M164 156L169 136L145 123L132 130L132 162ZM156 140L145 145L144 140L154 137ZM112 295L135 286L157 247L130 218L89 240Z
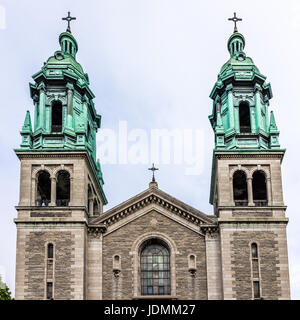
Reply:
M222 262L221 246L218 231L206 230L206 273L207 273L207 299L222 300Z

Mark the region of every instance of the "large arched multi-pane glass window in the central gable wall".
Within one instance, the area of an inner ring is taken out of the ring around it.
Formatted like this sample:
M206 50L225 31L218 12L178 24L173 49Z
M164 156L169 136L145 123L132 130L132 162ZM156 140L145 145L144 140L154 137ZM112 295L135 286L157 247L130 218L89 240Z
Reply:
M141 294L169 295L170 252L157 239L148 240L141 251Z

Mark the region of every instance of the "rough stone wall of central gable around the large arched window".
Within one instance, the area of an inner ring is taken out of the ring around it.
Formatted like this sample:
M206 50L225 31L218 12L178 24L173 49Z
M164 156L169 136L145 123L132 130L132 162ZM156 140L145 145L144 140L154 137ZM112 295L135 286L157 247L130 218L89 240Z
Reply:
M204 237L156 211L149 212L108 235L104 234L103 299L133 298L133 272L137 272L137 270L133 270L133 257L130 251L138 237L151 231L165 234L176 244L178 250L175 257L176 297L179 299L207 299ZM114 277L112 270L112 258L116 254L121 256L119 278ZM195 277L192 277L188 271L189 254L196 255L197 272Z

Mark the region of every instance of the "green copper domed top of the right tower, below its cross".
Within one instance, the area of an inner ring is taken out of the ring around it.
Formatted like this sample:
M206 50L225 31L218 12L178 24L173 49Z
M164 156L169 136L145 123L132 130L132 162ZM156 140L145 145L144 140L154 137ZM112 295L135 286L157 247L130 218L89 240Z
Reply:
M271 85L244 52L245 38L237 30L229 37L229 60L222 66L210 93L209 116L215 149L248 152L279 149L279 131L269 112Z

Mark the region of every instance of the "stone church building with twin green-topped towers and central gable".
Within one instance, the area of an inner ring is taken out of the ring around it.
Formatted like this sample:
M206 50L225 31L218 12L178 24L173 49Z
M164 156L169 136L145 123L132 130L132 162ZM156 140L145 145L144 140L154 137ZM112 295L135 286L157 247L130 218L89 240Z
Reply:
M68 23L70 22L67 19ZM209 116L215 135L207 215L149 188L103 211L101 126L70 27L33 75L21 163L16 299L289 299L285 149L271 85L235 28ZM100 131L101 134L101 131Z

